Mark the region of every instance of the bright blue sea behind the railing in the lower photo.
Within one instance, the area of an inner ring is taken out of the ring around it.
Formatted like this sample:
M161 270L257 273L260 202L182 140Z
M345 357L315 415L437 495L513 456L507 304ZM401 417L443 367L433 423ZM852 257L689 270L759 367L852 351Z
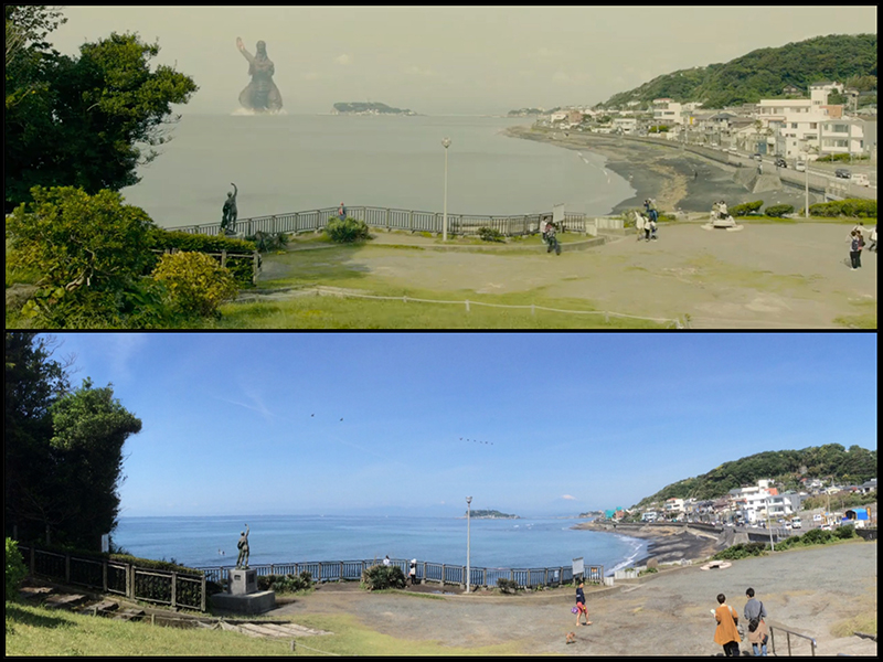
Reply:
M142 558L190 567L233 565L251 527L252 564L417 558L466 564L466 520L456 517L266 515L120 517L114 542ZM605 573L643 556L647 541L571 528L576 520L472 520L475 567L567 566L583 557ZM224 552L222 555L221 552Z

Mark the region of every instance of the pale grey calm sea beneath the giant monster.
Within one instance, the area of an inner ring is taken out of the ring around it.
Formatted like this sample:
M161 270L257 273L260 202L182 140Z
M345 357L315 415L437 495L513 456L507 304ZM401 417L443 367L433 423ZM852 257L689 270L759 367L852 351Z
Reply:
M607 214L632 195L604 158L508 138L524 119L185 115L162 153L123 190L163 227L215 223L231 182L240 218L350 206L442 212Z

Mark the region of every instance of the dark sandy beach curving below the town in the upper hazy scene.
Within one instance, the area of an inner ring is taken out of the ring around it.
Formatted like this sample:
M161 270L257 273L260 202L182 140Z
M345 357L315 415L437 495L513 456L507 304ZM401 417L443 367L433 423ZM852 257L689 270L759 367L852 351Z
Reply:
M636 209L648 197L663 212L708 213L714 202L728 205L763 200L767 205L790 204L796 210L805 203L804 192L790 186L780 191L753 193L734 181L735 168L666 145L651 145L615 136L563 131L534 131L530 127L511 127L503 131L512 138L536 140L575 151L593 151L607 159L606 167L629 181L635 195L618 203L618 214ZM556 137L553 137L556 136ZM810 204L819 202L810 194Z

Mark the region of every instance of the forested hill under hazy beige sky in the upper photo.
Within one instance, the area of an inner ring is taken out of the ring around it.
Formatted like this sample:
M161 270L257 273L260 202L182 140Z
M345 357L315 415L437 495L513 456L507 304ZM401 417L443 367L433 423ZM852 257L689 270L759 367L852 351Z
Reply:
M604 108L627 102L649 104L657 98L702 102L705 108L754 104L784 96L792 85L808 96L819 81L837 81L859 89L876 89L876 34L831 34L777 49L758 49L724 64L681 70L658 76L640 87L621 92Z

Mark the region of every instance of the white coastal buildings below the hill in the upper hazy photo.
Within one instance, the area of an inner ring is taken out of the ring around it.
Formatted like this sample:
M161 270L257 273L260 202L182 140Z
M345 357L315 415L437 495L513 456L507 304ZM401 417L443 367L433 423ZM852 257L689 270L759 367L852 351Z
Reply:
M770 158L776 168L798 171L830 160L843 166L838 178L876 186L876 169L862 168L863 161L876 159L876 92L836 81L819 81L806 89L787 86L781 97L724 108L656 98L614 107L524 108L509 116L532 117L534 127L562 132L649 137L751 154L758 161Z

